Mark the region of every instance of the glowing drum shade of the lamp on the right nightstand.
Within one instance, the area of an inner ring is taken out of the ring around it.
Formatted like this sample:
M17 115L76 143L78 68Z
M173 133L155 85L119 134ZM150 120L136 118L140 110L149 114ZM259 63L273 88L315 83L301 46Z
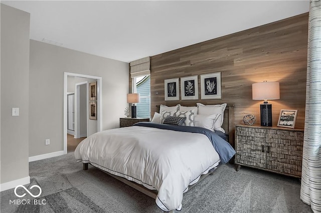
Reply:
M260 82L252 84L253 100L275 100L280 99L279 82Z

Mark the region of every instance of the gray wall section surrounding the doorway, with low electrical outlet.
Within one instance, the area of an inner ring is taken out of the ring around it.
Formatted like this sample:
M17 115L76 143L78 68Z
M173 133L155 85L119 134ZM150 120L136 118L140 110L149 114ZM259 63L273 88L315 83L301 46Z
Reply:
M30 40L29 156L64 149L64 72L102 77L102 129L119 127L127 106L128 63Z

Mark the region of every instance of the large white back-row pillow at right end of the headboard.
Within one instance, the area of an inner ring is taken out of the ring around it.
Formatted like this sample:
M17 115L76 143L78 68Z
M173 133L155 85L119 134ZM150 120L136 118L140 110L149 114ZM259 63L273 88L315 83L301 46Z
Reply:
M222 131L225 133L222 128L223 119L224 119L224 110L226 108L225 104L216 104L216 105L204 105L201 103L197 103L198 106L198 114L199 115L212 115L212 114L221 114L221 116L214 123L214 130Z

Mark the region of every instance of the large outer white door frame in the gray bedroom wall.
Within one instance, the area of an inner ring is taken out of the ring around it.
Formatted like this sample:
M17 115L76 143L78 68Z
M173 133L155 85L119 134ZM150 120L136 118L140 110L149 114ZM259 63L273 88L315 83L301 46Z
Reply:
M97 131L102 130L102 77L64 73L64 154L67 154L67 84L68 76L97 79ZM88 131L88 129L87 129Z

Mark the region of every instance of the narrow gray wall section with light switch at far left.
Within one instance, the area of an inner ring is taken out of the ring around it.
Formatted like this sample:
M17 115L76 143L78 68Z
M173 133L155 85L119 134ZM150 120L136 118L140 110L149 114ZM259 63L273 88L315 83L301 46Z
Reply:
M29 176L29 29L29 13L1 5L1 183Z

